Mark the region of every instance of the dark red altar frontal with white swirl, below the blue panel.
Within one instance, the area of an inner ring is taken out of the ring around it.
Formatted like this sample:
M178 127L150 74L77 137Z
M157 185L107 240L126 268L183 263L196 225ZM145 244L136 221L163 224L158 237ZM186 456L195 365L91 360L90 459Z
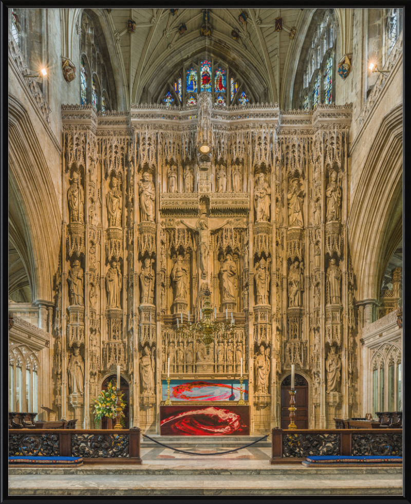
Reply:
M249 436L249 406L160 406L162 436Z

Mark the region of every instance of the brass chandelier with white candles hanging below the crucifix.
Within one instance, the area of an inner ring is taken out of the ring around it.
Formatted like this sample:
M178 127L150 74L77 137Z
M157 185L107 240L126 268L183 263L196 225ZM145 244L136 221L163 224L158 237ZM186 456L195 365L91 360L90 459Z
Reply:
M177 334L181 338L201 340L206 347L214 341L215 338L229 340L234 335L235 319L231 312L231 319L228 318L226 308L225 322L217 322L217 308L211 307L211 292L209 289L204 290L203 296L204 307L200 310L200 320L194 324L190 321L190 311L188 322L183 322L183 314L181 313L181 321L177 318ZM213 316L214 314L214 316Z

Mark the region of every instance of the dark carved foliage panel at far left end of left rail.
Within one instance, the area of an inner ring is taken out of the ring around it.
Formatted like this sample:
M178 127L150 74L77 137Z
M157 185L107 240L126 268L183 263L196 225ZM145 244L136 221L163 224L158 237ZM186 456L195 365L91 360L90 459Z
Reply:
M60 444L58 434L12 434L9 435L9 457L42 456L58 457Z

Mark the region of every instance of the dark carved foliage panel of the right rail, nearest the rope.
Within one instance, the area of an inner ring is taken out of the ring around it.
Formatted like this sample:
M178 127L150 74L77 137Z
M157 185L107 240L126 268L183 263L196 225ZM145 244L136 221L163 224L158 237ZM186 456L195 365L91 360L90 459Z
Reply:
M296 434L283 436L283 457L340 455L339 434Z

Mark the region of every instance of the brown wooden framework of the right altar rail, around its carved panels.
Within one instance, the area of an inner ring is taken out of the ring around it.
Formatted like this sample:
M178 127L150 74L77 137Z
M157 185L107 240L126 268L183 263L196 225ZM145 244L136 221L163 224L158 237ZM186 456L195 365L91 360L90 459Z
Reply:
M353 439L358 438L360 435L364 435L365 437L377 437L378 435L396 435L401 436L402 438L402 429L394 428L374 428L374 429L296 429L296 430L280 430L280 429L272 429L271 430L271 464L277 463L301 463L302 460L305 460L305 457L308 455L312 455L312 453L308 453L310 450L310 439L307 439L307 449L305 450L307 453L304 454L304 448L301 449L301 456L286 456L283 454L283 439L285 436L299 436L302 435L303 439L306 439L307 436L316 436L316 435L327 435L327 434L338 434L339 436L339 452L334 455L352 455L353 449ZM356 436L353 438L353 436ZM297 443L300 442L296 439ZM332 444L332 443L331 443ZM335 445L335 450L338 450L337 445ZM402 449L401 449L402 450ZM315 453L315 455L329 455L329 453ZM376 453L376 455L380 455L380 453ZM402 455L402 451L401 451ZM383 456L383 454L381 454Z

